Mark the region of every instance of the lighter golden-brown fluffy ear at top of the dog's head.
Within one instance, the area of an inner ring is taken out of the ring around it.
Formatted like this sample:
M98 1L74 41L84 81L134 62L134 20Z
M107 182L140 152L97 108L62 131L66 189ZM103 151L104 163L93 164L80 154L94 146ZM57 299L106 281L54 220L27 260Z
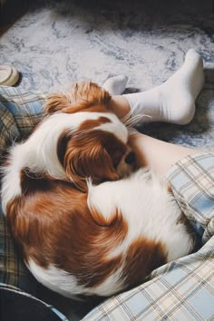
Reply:
M44 110L47 113L92 112L102 107L106 108L110 99L110 93L96 83L73 83L68 91L49 95Z

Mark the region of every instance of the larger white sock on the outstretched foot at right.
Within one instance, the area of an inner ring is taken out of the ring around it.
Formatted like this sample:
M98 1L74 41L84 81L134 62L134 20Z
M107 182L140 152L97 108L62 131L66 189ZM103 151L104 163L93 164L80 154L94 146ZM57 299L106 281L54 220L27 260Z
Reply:
M131 107L131 117L141 115L141 122L189 123L195 113L195 100L204 83L203 62L190 49L180 69L168 81L146 92L124 94ZM150 117L145 117L150 116Z

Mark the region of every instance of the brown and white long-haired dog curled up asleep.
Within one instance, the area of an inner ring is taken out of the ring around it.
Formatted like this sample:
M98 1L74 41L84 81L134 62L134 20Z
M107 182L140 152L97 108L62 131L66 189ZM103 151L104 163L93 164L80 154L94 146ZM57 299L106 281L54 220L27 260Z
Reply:
M119 180L133 157L110 99L94 83L52 96L49 115L3 168L3 209L25 264L66 297L110 296L194 248L175 199L150 171Z

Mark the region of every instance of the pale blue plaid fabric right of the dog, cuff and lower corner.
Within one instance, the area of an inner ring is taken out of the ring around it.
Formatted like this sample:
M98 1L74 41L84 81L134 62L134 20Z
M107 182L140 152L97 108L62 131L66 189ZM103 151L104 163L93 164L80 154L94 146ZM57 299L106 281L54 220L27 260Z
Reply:
M149 281L105 301L84 321L214 320L214 154L180 160L167 178L206 244L197 253L157 268Z

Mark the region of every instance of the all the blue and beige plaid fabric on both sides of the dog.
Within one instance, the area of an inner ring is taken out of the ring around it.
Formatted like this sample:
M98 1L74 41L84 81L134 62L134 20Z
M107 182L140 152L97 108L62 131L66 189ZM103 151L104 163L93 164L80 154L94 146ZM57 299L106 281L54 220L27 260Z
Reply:
M46 95L0 87L0 143L20 141L44 118ZM150 281L106 300L83 320L214 320L214 154L191 155L167 176L201 235L199 252L156 269ZM0 212L0 283L34 287ZM32 293L32 291L30 291Z

